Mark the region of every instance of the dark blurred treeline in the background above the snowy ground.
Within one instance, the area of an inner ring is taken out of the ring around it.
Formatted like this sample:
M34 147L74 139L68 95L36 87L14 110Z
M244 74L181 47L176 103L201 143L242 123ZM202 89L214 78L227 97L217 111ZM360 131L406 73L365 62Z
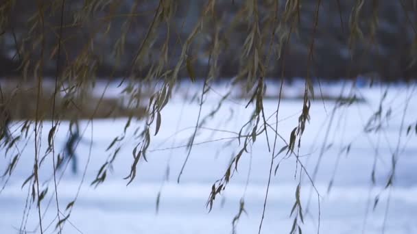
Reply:
M272 0L258 1L261 29L270 27L264 19L273 3ZM88 69L97 77L129 75L135 53L143 46L146 57L134 64L137 77L141 77L160 59L160 50L166 40L169 40L169 64L174 67L182 44L198 22L206 1L178 0L171 4L171 20L160 23L156 31L151 32L152 43L142 45L154 21L158 1L67 1L62 14L61 67L82 61L80 54L88 50ZM197 77L206 75L209 57L206 51L213 44L211 35L215 27L219 27L217 31L222 44L218 76L233 77L242 69L241 50L249 31L247 21L241 19L245 16L245 4L246 1L239 0L215 1L213 14L218 22L207 22L202 26L203 33L194 38L190 51ZM360 12L352 12L355 4L363 4ZM277 21L280 21L283 9L285 1L279 1ZM265 36L262 50L265 54L271 51L268 77L306 77L307 73L322 79L357 75L385 80L416 77L413 61L416 57L415 1L321 1L320 8L317 8L317 1L302 1L298 10L296 21L289 24L294 26L289 44L281 51L281 56L285 54L285 66L277 60L278 49L270 47L271 37ZM36 18L40 12L45 14L43 22ZM1 1L0 77L18 76L23 72L30 77L42 47L43 74L56 75L61 13L61 1ZM359 14L359 22L353 22L355 13ZM42 30L38 27L41 23ZM353 25L361 31L356 31ZM37 34L45 35L45 41ZM273 40L278 40L281 34L282 31L277 31ZM313 38L313 58L309 64ZM179 74L180 77L188 76L187 69L183 67Z

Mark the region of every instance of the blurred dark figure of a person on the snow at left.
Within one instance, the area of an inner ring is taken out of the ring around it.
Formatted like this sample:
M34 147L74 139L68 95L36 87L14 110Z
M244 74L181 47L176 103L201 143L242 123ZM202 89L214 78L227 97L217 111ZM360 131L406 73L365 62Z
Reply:
M78 171L78 161L77 155L75 155L75 148L80 140L78 122L71 121L69 124L69 138L64 148L64 159L71 161L71 171L73 174L77 174Z

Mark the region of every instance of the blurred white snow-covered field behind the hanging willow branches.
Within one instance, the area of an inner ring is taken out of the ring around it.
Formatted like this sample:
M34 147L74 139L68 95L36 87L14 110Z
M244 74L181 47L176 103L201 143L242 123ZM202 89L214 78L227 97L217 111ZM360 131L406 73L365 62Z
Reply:
M310 110L311 121L302 137L300 160L307 171L313 174L320 151L324 148L315 178L315 187L320 193L320 230L318 196L311 190L311 183L304 174L300 194L303 209L308 209L309 212L305 215L305 223L300 223L303 233L417 233L417 135L414 130L417 121L417 90L413 90L413 87L415 88L415 85L411 88L401 85L390 87L382 110L385 115L389 107L392 109L390 121L384 123L380 134L364 133L364 126L372 113L377 112L385 86L355 89L353 92L359 97L364 97L366 101L353 104L348 109L337 109L326 140L325 135L335 102L313 101ZM202 107L202 116L211 112L217 106L219 94L226 92L220 85L214 89L216 93L210 92ZM286 91L291 94L297 89L300 89L300 86L295 84L287 87ZM322 86L326 94L337 95L340 89L340 85ZM198 88L195 88L195 91L201 92ZM110 95L117 95L115 89L110 88L108 92ZM278 87L268 86L267 92L276 94ZM408 108L404 112L407 101ZM242 214L237 224L237 233L258 233L272 154L267 150L264 135L257 138L251 153L242 155L238 171L234 172L222 196L216 198L213 210L209 213L206 208L211 185L224 175L230 158L241 148L237 140L229 145L225 143L230 137L236 136L227 131L239 132L254 109L254 105L244 109L246 102L233 97L228 99L215 118L206 122L206 129L199 130L195 138L195 143L198 144L193 146L179 184L176 183L176 179L187 156L187 150L185 147L172 147L184 146L192 135L199 110L195 101L184 102L175 97L163 109L160 131L152 137L147 162L140 161L136 179L127 187L128 181L123 177L129 174L133 161L132 149L138 141L132 138L123 142L114 162L114 170L108 174L106 181L97 188L90 186L100 166L112 153L105 152L107 146L113 138L123 133L126 119L94 120L93 123L83 121L81 129L86 131L83 142L80 142L77 148L77 155L80 169L84 169L88 161L84 182L81 183L82 173L73 175L68 170L58 183L58 200L63 213L67 204L76 196L81 184L78 199L68 222L64 224L63 233L232 233L232 221L239 211L241 199L245 201L246 214ZM277 100L265 99L264 105L265 116L270 116L276 110ZM291 130L298 124L301 109L302 101L289 99L281 103L278 133L283 135L287 142ZM404 113L403 129L400 130ZM274 117L268 122L275 125ZM14 122L12 126L18 127L19 124ZM140 121L132 122L127 135L134 131L134 127L142 125L143 122ZM409 125L413 127L407 135ZM45 152L50 128L50 122L44 122L43 148L40 152ZM57 150L64 147L68 136L67 129L68 122L62 122L55 140ZM170 137L176 132L179 133ZM274 139L272 131L269 134L270 140ZM226 139L206 142L221 138ZM89 142L91 139L93 144ZM351 145L348 155L346 151L341 153L348 144ZM278 138L277 151L284 145ZM32 171L34 142L29 140L26 145L22 140L18 146L23 151L23 156L0 194L0 233L19 233L19 227L26 219L27 233L40 233L37 228L36 204L29 209L28 218L23 213L29 187L26 185L21 188L23 181ZM394 186L384 190L392 168L392 154L396 152L398 162ZM4 152L0 154L3 155ZM274 159L273 170L283 156L284 153ZM49 156L43 162L40 181L51 179L51 161ZM1 172L5 168L5 162L4 157L0 159ZM167 164L169 181L163 183ZM371 172L374 164L375 185L372 185ZM299 165L297 170L300 171ZM289 233L294 220L294 217L289 217L289 213L296 200L298 184L298 177L294 179L295 172L296 161L294 157L290 157L283 159L276 176L272 175L261 233ZM333 186L328 192L332 178ZM4 183L3 179L1 185ZM41 203L43 229L44 233L57 233L53 181L48 185L49 192ZM40 184L40 187L45 188L47 184ZM160 203L156 213L159 191ZM379 202L373 209L376 196L379 196ZM49 200L52 202L46 209Z

